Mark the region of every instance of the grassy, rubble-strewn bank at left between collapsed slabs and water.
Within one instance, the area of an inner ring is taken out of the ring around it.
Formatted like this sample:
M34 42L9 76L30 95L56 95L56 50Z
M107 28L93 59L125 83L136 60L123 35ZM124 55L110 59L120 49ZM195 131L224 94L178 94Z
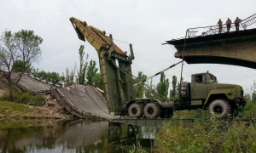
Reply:
M31 92L14 93L15 101L9 101L9 92L0 96L0 119L55 119L71 120L72 115L64 111L56 99L48 95L33 95Z

